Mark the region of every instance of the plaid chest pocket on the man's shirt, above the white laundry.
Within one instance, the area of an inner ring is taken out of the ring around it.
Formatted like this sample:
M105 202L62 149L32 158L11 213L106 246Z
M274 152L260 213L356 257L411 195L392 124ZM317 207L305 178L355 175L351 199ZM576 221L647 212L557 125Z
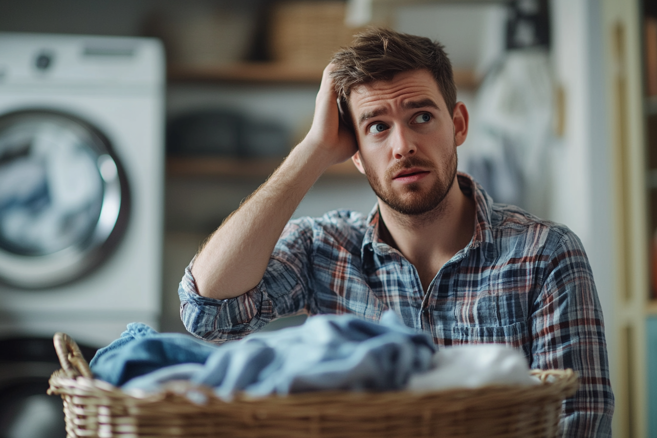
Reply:
M527 363L531 364L532 345L527 323L514 322L508 326L457 325L452 328L452 345L474 343L501 343L521 349Z

